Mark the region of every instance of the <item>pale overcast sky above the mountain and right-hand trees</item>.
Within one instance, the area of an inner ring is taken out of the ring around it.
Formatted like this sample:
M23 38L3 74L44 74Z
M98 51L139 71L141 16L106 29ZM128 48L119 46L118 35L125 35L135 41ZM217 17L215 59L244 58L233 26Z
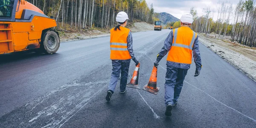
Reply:
M203 9L207 7L214 13L214 20L217 20L218 16L218 2L227 1L227 0L146 0L148 6L153 3L155 12L167 12L178 19L180 19L183 13L189 13L191 7L195 7L198 12L198 16L204 15ZM236 7L236 4L239 3L239 0L229 0L233 5L233 10ZM213 15L213 13L212 13ZM211 17L212 17L211 15ZM232 19L232 17L231 17ZM231 21L233 22L233 21Z

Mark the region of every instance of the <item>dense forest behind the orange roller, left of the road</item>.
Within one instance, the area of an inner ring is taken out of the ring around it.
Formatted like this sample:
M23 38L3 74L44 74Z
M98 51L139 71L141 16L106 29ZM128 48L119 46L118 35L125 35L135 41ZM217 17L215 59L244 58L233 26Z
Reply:
M27 0L41 9L45 15L54 17L58 29L112 28L116 15L124 11L129 21L154 23L154 8L145 0Z

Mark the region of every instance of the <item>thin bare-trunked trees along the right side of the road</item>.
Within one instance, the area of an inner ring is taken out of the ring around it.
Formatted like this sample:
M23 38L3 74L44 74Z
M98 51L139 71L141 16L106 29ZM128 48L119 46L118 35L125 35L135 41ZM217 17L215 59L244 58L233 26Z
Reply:
M195 32L215 34L215 37L225 38L230 36L231 41L236 41L249 47L256 47L256 6L253 0L240 0L233 8L231 2L218 3L217 10L209 7L204 9L204 15L197 16L193 7L190 13L194 17L192 29ZM217 21L212 20L217 13Z

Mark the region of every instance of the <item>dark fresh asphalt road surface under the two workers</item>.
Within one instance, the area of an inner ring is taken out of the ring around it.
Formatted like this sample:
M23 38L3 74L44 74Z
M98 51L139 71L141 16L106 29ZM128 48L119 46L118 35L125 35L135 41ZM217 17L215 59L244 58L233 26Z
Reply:
M170 30L133 33L143 88ZM0 128L256 128L256 83L200 43L203 68L189 70L172 116L164 115L166 57L157 95L119 83L106 102L111 77L109 37L61 43L56 54L0 55ZM130 65L131 79L135 64Z

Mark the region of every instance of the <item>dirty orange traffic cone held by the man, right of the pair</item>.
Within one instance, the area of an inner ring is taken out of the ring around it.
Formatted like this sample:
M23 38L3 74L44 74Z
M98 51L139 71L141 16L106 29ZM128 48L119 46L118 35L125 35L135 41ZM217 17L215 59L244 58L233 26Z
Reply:
M144 86L143 90L157 95L159 89L160 88L157 87L157 67L154 66L149 82L147 85Z

